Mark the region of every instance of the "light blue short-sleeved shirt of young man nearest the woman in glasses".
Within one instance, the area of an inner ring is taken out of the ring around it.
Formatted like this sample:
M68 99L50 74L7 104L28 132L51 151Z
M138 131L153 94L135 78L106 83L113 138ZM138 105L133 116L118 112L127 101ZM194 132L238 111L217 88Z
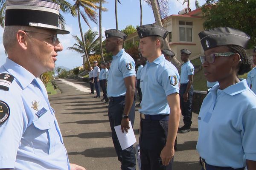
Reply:
M140 103L143 114L169 114L166 96L179 93L179 73L163 54L153 62L147 62L141 71L140 88L143 94Z

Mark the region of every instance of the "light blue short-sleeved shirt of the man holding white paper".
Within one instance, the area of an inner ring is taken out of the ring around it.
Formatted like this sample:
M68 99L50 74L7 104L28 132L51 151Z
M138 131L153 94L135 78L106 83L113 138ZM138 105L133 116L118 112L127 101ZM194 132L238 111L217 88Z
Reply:
M113 56L111 67L108 71L108 97L125 96L126 87L124 78L135 76L134 59L124 49Z

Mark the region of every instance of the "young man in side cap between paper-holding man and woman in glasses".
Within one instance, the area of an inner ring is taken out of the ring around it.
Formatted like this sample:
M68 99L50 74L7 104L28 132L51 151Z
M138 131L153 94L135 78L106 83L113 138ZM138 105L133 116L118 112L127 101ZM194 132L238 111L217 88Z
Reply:
M180 120L180 76L161 53L168 31L156 24L148 24L138 27L137 32L140 53L148 59L140 74L142 170L172 170Z

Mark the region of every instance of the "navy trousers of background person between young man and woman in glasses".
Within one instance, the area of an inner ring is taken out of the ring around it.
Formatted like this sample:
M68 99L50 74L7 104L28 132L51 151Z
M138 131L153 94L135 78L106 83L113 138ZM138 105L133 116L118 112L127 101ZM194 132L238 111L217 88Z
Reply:
M183 115L183 122L185 127L190 128L192 124L192 99L193 99L193 93L194 89L193 86L191 86L189 90L189 98L186 102L184 102L183 99L183 94L186 91L187 85L181 85L180 86L180 109L181 109L181 114Z

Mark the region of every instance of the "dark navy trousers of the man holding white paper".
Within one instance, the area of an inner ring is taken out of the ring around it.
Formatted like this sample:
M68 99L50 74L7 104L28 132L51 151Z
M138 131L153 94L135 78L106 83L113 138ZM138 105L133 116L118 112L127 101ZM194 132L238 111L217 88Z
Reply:
M116 136L116 131L114 126L121 125L122 114L125 107L125 96L109 98L108 105L108 119L110 122L110 127L112 131L112 140L118 156L118 160L121 162L122 170L136 170L136 158L135 158L135 149L133 145L122 150L119 141ZM129 120L131 125L134 125L134 116L135 116L135 102L131 107L129 113Z

